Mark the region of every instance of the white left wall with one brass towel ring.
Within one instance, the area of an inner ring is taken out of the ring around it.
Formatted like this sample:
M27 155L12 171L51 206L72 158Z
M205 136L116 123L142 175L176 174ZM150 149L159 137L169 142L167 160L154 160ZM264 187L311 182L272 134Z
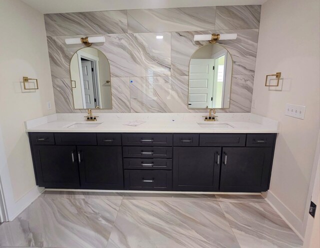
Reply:
M7 169L16 202L36 188L23 121L52 114L55 108L43 14L20 0L0 0L0 30L1 160L6 163L0 174ZM22 76L38 78L39 89L22 92Z

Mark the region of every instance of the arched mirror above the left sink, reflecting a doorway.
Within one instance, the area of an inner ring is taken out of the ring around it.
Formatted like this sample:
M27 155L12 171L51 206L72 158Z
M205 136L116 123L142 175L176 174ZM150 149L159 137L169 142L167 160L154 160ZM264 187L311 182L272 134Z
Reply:
M74 108L112 108L110 65L98 49L85 47L70 61Z

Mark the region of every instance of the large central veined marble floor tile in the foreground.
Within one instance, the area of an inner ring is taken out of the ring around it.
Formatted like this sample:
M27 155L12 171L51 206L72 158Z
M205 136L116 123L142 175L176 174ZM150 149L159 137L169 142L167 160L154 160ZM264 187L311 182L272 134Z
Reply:
M122 200L107 248L239 248L217 202Z

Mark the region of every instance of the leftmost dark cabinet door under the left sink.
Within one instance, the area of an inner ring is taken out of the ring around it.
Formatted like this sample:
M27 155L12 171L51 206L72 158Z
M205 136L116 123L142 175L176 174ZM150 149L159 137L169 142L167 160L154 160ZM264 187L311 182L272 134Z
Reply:
M73 145L33 145L34 166L39 186L79 188L76 149Z

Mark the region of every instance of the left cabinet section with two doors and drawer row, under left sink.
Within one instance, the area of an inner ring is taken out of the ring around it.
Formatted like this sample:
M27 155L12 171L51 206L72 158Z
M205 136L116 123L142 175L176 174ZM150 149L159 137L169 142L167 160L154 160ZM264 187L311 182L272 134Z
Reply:
M61 132L29 135L37 185L123 189L121 134Z

